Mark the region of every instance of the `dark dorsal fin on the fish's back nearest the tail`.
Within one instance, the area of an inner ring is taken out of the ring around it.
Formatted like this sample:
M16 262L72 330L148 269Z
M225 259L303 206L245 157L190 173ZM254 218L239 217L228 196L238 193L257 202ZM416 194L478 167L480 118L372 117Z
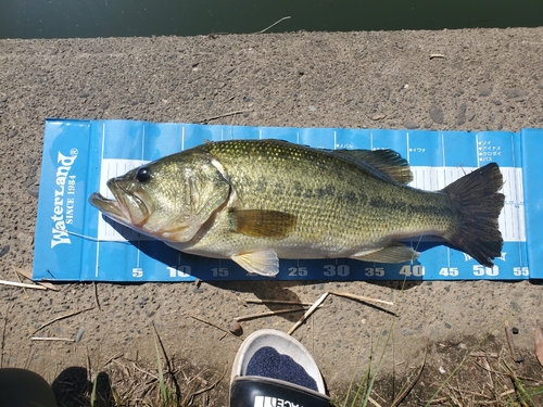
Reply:
M378 170L395 182L409 183L413 174L409 164L394 150L333 150L332 154L350 160L368 170Z

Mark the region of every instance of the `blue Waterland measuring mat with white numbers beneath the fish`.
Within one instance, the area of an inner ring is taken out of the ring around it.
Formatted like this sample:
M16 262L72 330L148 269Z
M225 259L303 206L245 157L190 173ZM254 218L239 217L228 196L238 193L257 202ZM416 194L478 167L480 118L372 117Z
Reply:
M159 124L135 120L46 122L33 277L55 281L266 280L227 259L199 257L119 226L88 203L111 198L105 182L141 164L206 140L281 139L324 149L393 149L405 157L415 188L440 190L495 162L503 177L500 216L504 247L494 267L424 238L405 242L416 262L281 259L278 280L526 280L542 279L543 129L429 131Z

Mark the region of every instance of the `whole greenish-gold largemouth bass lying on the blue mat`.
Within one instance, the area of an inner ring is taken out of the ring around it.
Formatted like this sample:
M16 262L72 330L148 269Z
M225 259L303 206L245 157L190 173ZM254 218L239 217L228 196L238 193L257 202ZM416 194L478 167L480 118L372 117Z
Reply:
M501 256L505 196L490 163L439 191L413 188L393 150L281 140L206 142L112 178L91 205L181 252L276 276L280 258L416 260L402 241L434 236L485 267Z

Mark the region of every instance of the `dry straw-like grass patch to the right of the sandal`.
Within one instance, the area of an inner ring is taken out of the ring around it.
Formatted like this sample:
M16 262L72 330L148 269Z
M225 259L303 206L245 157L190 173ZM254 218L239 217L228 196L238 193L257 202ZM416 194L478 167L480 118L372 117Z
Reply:
M359 379L358 389L345 392L345 397L334 406L543 406L543 372L535 358L515 364L505 344L495 342L488 347L492 349L442 349L459 360L446 366L452 373L445 379L438 373L440 366L427 361L425 355L411 376L395 378L396 383L401 382L399 390L391 386L394 378L390 376L371 384L368 369ZM496 347L501 348L496 352ZM439 353L433 356L443 356ZM376 360L378 356L375 355Z

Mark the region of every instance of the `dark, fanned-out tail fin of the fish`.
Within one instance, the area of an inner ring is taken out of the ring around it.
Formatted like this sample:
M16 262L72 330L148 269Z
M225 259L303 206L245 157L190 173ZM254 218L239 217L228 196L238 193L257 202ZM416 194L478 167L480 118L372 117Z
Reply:
M502 186L502 173L497 164L491 163L442 190L460 214L458 225L444 238L485 267L494 265L492 259L501 256L504 244L497 227L505 200L505 195L497 192Z

